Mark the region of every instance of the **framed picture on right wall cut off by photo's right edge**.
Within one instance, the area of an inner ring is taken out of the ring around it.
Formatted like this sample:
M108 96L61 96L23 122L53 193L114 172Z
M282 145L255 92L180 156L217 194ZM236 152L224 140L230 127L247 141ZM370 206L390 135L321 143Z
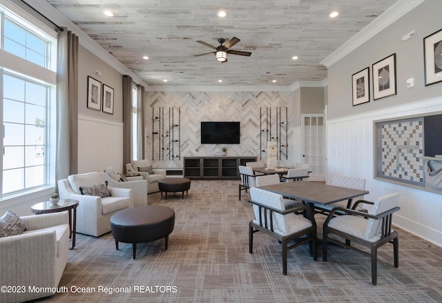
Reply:
M423 38L425 86L442 81L442 30Z

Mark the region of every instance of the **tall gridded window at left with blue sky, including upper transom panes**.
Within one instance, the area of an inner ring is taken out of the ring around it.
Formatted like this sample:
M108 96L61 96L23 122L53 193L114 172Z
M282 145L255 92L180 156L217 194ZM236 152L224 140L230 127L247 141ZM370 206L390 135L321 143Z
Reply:
M0 55L9 58L1 60L0 68L3 199L51 182L49 124L55 124L50 121L55 73L48 70L56 41L55 32L45 34L2 6L0 20Z

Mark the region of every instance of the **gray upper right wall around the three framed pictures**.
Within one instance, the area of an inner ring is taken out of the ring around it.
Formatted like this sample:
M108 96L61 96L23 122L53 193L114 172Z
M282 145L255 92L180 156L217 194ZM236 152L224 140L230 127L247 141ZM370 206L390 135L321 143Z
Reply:
M442 28L441 11L441 0L426 0L330 66L328 118L345 117L440 96L442 84L424 84L423 38ZM416 37L401 41L403 35L413 29L416 29ZM397 95L374 101L372 64L393 53L396 53ZM370 72L370 102L352 106L352 75L367 67ZM412 77L414 88L407 88L406 81Z

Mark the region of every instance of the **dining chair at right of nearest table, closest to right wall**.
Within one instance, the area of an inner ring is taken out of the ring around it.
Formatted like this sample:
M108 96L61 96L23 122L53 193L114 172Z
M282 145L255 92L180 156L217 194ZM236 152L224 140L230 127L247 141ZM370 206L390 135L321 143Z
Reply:
M377 251L379 247L392 243L394 267L397 268L399 265L398 233L392 229L392 215L401 209L397 206L398 201L399 194L391 193L378 197L375 202L365 200L356 202L357 204L371 204L372 209L368 213L343 207L336 207L330 211L323 226L323 261L327 262L327 242L371 255L372 284L376 285ZM334 213L336 211L343 211L346 215L335 216ZM330 237L330 235L342 237L345 239L345 243L336 240L335 237ZM368 247L370 253L352 246L352 242Z

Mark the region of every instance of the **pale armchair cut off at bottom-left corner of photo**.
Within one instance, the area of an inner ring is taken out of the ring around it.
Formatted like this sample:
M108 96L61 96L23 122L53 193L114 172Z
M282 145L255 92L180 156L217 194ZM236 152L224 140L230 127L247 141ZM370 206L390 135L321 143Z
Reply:
M0 238L0 281L2 285L25 286L26 291L0 292L0 302L24 302L53 295L53 292L28 291L28 286L57 287L68 262L67 211L20 219L25 232Z

